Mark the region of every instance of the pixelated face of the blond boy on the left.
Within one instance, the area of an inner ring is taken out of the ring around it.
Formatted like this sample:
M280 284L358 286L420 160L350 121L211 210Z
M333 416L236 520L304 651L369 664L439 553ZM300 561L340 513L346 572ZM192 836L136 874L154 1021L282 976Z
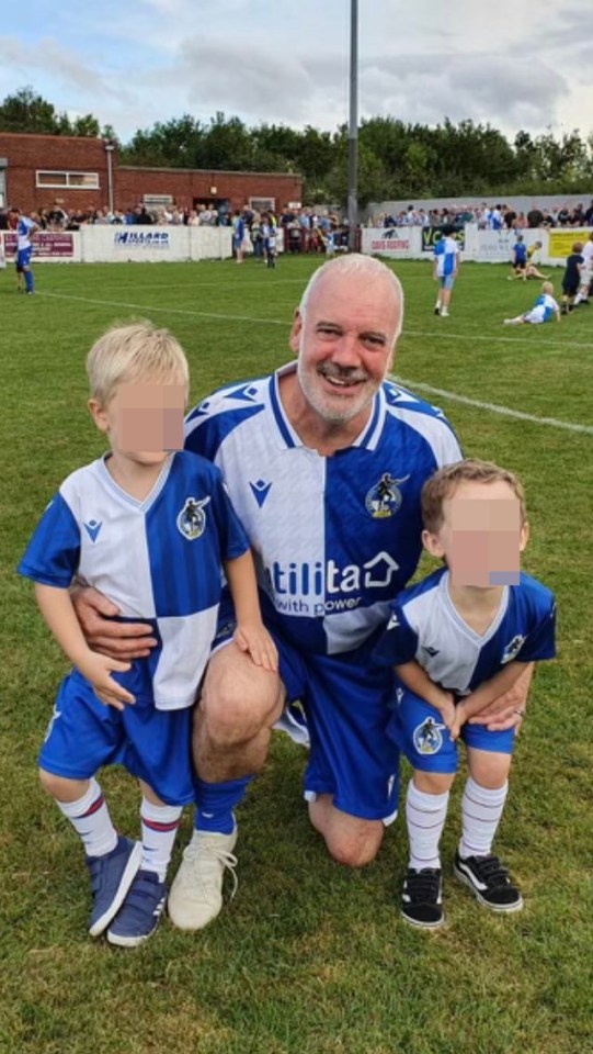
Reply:
M135 460L164 460L183 448L185 390L182 384L118 384L106 406L90 401L95 424L110 437L112 450Z

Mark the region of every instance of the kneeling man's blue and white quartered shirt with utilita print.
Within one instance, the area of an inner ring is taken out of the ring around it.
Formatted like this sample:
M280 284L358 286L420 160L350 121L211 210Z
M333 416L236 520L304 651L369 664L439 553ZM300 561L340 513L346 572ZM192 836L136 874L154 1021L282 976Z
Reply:
M326 458L288 422L278 378L232 384L186 422L254 550L262 610L304 652L353 651L389 617L421 552L420 491L461 457L442 413L385 382L356 441Z

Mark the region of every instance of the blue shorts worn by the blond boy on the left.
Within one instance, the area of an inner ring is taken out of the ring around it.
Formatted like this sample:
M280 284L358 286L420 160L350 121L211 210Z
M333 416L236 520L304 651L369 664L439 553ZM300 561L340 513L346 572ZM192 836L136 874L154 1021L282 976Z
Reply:
M139 696L116 710L101 703L75 670L61 682L39 765L67 780L89 780L102 765L123 765L167 805L194 800L193 708L157 710Z

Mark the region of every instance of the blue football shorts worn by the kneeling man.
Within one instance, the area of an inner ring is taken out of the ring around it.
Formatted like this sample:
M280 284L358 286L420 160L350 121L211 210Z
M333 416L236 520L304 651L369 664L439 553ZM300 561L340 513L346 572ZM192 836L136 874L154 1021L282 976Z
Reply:
M331 794L342 812L390 823L399 790L399 750L386 735L392 671L369 662L369 646L340 655L304 654L276 627L267 629L278 649L286 704L298 700L307 719L305 797ZM233 630L227 607L213 650Z

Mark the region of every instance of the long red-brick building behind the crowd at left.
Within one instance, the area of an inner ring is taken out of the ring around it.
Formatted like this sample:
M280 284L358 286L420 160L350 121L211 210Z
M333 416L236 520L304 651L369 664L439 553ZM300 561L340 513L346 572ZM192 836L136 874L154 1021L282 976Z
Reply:
M112 208L138 202L150 209L167 202L180 209L201 203L244 204L281 210L300 202L300 176L285 172L224 172L185 168L135 168L119 165L105 139L0 132L0 205L24 212Z

